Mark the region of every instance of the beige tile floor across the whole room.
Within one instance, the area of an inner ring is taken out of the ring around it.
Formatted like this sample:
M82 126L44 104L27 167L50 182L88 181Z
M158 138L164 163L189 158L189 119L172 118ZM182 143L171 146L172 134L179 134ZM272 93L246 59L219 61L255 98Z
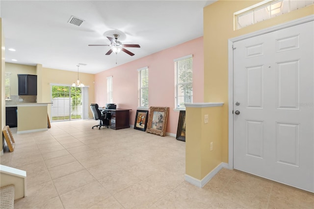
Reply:
M91 129L94 120L55 122L16 134L3 165L26 170L16 209L313 209L314 194L222 169L203 188L184 181L185 143L134 129Z

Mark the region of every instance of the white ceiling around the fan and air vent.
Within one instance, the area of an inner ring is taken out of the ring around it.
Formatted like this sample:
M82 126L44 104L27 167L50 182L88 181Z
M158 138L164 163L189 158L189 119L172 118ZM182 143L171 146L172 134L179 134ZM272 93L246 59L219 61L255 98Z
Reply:
M215 0L1 0L5 61L96 74L203 36L203 7ZM84 20L68 23L71 16ZM106 36L139 44L105 55ZM16 51L8 51L14 48ZM12 61L16 59L17 61ZM116 64L117 61L117 64Z

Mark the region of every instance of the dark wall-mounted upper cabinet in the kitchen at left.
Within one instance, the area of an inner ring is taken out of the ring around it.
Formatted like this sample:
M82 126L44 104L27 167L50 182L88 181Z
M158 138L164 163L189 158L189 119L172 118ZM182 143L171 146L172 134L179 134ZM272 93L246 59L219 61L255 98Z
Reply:
M19 95L37 95L37 76L18 74Z

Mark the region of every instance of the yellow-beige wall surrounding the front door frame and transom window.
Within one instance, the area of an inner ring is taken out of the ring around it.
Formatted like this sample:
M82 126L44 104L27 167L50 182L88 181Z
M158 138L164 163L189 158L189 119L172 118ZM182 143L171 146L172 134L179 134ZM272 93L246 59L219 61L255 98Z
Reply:
M311 5L234 31L234 13L258 2L218 0L204 8L204 101L224 103L219 139L223 162L228 162L228 39L314 14Z

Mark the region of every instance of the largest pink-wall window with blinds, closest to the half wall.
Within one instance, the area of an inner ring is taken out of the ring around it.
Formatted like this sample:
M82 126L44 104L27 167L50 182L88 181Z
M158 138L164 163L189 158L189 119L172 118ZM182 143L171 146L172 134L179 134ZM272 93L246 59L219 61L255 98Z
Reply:
M175 108L185 109L184 103L192 103L192 55L174 60Z

